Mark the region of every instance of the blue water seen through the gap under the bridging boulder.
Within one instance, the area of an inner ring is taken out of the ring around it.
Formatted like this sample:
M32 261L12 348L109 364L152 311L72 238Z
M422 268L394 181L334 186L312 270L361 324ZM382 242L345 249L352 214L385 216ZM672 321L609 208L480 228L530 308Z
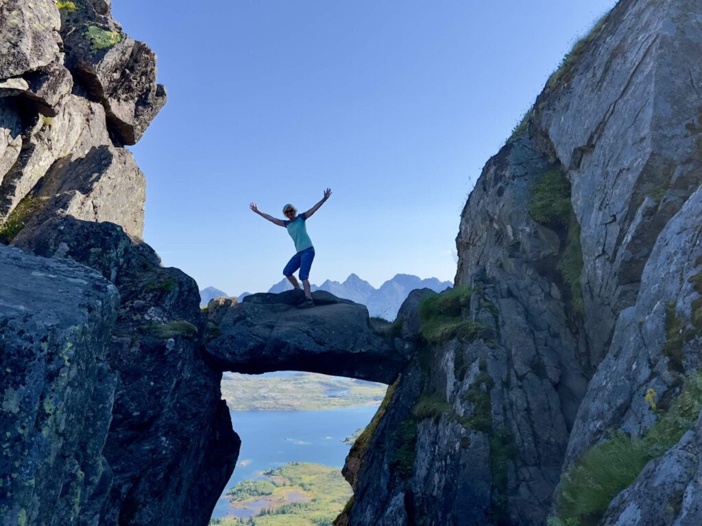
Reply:
M234 431L241 437L241 452L212 516L230 513L232 508L224 494L241 480L257 478L260 471L288 462L343 466L350 445L342 440L367 426L376 410L377 405L366 405L323 411L230 412Z

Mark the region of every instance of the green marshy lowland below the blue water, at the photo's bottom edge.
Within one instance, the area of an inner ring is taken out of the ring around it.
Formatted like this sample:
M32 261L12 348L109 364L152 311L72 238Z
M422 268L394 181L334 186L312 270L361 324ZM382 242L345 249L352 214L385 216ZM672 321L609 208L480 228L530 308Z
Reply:
M213 518L211 526L331 526L352 495L341 469L322 464L291 462L260 475L227 492L232 508L258 514Z

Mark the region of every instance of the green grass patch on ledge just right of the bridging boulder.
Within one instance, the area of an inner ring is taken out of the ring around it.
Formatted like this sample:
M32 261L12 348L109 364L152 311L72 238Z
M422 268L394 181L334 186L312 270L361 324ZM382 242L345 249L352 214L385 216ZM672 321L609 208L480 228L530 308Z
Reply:
M439 345L453 338L470 342L482 335L485 330L482 323L463 319L463 309L470 306L473 292L472 288L461 285L423 300L419 306L420 332L428 343Z

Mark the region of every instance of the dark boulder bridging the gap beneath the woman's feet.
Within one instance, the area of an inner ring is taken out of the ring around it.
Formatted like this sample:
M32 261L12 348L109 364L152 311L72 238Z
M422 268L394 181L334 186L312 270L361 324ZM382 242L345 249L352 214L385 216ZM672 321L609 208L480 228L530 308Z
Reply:
M298 370L395 381L409 356L376 333L366 307L318 291L312 309L297 309L303 298L301 290L254 294L213 310L220 335L208 342L209 355L223 369L246 374Z

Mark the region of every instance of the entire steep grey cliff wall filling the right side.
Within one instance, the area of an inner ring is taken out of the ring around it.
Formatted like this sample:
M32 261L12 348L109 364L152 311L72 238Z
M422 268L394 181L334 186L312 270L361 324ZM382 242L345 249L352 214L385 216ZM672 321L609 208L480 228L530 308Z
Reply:
M338 525L543 525L565 470L698 374L700 56L702 4L622 0L552 76L463 210L456 285L484 330L418 340ZM588 524L697 524L698 427Z

